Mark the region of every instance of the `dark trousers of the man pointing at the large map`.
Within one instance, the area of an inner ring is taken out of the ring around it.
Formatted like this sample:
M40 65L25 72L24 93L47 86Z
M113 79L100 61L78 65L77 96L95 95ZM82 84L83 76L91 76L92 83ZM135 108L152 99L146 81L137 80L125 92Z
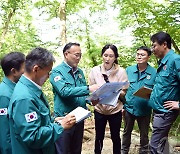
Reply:
M56 141L57 154L81 154L84 122L64 130Z

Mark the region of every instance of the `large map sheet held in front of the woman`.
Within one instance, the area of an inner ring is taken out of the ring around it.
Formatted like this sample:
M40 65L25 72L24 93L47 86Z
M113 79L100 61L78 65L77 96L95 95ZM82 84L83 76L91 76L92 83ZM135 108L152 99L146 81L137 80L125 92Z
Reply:
M103 84L98 90L93 92L87 100L98 100L99 104L116 106L118 98L124 86L129 82L108 82Z

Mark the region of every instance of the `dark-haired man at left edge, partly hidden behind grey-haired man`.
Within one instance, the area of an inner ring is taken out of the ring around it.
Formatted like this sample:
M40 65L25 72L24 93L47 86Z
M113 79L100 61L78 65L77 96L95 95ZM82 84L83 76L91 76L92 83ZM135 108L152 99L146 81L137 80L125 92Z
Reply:
M11 139L8 120L8 106L16 82L24 72L25 56L11 52L1 59L5 77L0 84L0 154L11 154Z

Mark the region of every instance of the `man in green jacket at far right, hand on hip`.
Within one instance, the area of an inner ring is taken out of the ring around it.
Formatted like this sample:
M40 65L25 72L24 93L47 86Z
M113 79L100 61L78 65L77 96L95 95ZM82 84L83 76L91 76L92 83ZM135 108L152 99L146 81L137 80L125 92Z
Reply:
M151 41L160 60L150 98L155 113L150 147L152 154L165 154L169 153L168 133L180 108L180 55L171 49L171 37L165 32L154 34Z

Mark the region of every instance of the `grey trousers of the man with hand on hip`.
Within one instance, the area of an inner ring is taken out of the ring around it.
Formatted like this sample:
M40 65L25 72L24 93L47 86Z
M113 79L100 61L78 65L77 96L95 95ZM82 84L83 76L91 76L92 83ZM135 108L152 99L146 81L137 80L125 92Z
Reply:
M168 133L178 114L178 110L154 114L151 154L169 154Z

